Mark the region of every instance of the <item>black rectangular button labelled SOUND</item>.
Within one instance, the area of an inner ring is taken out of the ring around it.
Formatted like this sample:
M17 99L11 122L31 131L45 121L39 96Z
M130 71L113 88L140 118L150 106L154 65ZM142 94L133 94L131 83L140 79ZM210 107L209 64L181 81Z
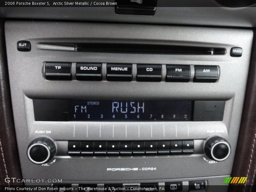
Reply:
M76 79L84 81L101 81L102 64L76 63Z

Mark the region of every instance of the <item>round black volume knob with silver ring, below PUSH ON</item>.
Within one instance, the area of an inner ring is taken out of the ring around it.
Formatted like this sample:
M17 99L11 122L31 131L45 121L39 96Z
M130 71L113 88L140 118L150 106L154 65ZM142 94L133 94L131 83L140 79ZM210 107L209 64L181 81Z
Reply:
M28 145L28 159L35 164L47 163L55 154L55 142L48 137L37 137Z

